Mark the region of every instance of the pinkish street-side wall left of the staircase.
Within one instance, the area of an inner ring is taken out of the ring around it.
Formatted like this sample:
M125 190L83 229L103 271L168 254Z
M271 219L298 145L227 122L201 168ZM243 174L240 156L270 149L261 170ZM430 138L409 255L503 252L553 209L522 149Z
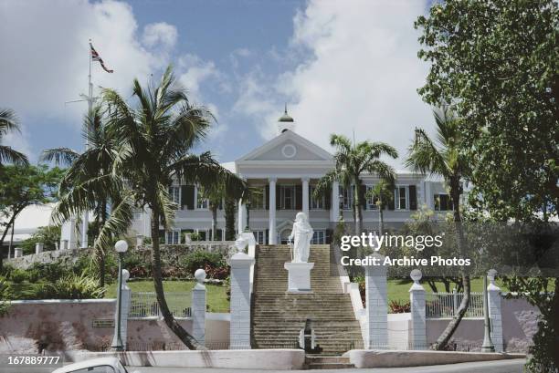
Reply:
M0 353L37 354L41 350L102 350L114 333L115 299L14 301L0 317ZM229 315L206 314L206 345L228 347ZM192 332L192 319L178 319ZM158 317L128 320L130 349L182 349Z

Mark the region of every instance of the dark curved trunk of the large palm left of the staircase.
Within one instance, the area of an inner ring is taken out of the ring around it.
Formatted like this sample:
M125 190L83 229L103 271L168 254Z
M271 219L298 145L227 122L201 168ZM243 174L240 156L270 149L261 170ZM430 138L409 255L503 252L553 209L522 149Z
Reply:
M173 331L174 335L178 337L186 347L189 349L206 349L195 337L192 337L185 328L181 326L175 319L169 306L167 306L167 301L165 300L165 294L163 291L163 275L161 271L161 253L159 252L159 208L157 206L152 207L152 275L153 275L153 287L155 288L155 294L157 295L157 303L159 304L159 309L163 315L163 320L165 325Z

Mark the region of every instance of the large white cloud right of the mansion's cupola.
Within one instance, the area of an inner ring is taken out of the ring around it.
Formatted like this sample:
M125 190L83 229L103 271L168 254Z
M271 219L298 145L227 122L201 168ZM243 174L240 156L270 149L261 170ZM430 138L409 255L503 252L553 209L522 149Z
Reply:
M427 65L417 58L413 23L426 1L311 1L294 18L293 54L311 57L270 86L248 79L236 108L256 115L265 138L276 133L280 98L291 98L296 130L329 149L332 132L386 141L406 155L413 129L429 130L429 108L417 95ZM290 56L290 53L287 53ZM393 162L399 166L399 161Z

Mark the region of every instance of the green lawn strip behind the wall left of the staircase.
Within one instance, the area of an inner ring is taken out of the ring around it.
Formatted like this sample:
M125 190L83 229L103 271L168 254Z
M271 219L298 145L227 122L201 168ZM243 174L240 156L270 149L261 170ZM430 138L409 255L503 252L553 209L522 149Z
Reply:
M163 281L165 292L189 292L195 285L195 281ZM132 281L128 283L132 292L153 292L153 281ZM229 312L229 301L227 300L227 285L206 285L207 305L209 312ZM106 298L116 297L116 284L112 284L105 293ZM170 305L171 306L171 305Z

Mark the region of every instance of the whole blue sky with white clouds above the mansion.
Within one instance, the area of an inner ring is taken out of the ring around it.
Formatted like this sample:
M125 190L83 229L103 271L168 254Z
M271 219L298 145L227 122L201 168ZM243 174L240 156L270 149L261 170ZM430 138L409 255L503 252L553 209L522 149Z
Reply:
M413 21L422 1L0 2L0 107L16 109L23 132L5 142L37 159L41 150L83 148L87 39L114 68L93 67L96 85L130 93L132 78L173 63L179 82L218 119L204 150L233 161L273 137L288 102L296 131L326 150L332 132L385 140L401 153L415 126L430 130L416 89ZM18 35L16 41L12 35ZM396 162L398 165L398 162Z

